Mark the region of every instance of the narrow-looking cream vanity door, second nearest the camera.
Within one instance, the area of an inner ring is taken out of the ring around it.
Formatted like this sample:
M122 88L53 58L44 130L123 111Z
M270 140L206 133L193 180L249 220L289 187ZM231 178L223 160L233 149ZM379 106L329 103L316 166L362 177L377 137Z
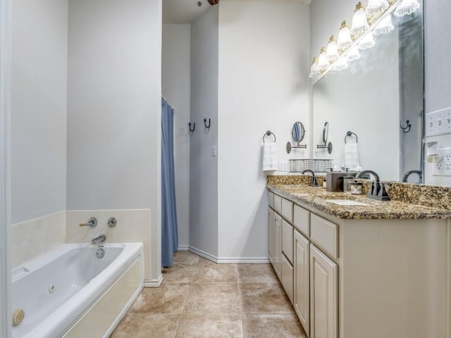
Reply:
M310 242L295 230L294 237L294 268L295 268L295 285L293 294L293 306L299 321L304 327L305 333L309 336L310 329L310 293L309 293L309 246Z

